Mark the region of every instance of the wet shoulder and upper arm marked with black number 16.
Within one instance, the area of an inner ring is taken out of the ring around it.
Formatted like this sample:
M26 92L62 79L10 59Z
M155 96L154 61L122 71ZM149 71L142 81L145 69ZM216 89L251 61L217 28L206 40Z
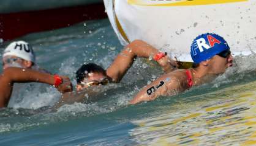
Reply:
M173 96L178 92L182 92L186 89L186 78L178 78L176 75L171 73L165 74L157 78L157 80L154 80L154 82L151 84L142 88L140 92L138 92L138 94L134 97L134 99L130 101L130 104L143 101L151 101L159 96Z

